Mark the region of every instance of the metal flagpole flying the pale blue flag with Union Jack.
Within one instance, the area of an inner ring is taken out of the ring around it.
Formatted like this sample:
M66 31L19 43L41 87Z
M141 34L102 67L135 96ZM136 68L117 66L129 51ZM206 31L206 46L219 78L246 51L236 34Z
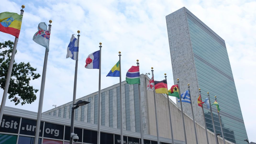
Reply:
M49 23L50 24L48 25L49 26L48 31L50 33L52 20L49 20ZM48 60L48 50L45 48L45 59L44 59L44 67L43 67L42 81L41 81L41 88L40 88L40 95L39 95L39 104L38 104L37 121L36 121L36 135L35 135L34 143L38 143L39 132L40 132L40 122L41 122L44 91L45 91L45 77L46 77L47 60Z

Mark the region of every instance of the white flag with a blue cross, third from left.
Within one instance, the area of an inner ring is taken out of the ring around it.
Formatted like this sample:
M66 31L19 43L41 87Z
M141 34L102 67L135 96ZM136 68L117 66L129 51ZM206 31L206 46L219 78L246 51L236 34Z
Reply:
M75 38L74 34L71 36L68 50L67 50L67 56L66 58L71 58L73 60L78 60L78 50L79 50L79 40Z

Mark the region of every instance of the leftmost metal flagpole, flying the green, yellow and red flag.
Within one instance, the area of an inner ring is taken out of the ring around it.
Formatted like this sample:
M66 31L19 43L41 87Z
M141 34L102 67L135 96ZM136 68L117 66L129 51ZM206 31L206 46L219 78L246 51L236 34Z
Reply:
M23 8L25 8L25 5L22 5L21 7L22 7L22 9L20 10L20 15L23 15L23 12L24 12ZM0 107L0 123L2 121L3 114L4 114L4 107L5 107L5 102L6 102L9 84L10 84L10 79L11 79L11 75L12 75L13 62L14 62L15 52L16 52L16 48L17 48L17 43L18 43L18 38L15 37L14 44L13 44L12 56L10 59L9 69L7 72L7 77L6 77L5 86L4 86L4 94L3 94L2 103L1 103L1 107Z

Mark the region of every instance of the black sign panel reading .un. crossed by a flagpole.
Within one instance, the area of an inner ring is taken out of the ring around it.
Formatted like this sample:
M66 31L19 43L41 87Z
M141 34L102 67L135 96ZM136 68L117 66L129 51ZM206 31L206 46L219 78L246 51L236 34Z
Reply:
M39 133L40 137L42 136L42 133L43 133L42 132L43 126L44 126L44 122L41 121L40 133ZM36 120L22 118L19 133L23 134L23 135L35 136L35 134L36 134Z

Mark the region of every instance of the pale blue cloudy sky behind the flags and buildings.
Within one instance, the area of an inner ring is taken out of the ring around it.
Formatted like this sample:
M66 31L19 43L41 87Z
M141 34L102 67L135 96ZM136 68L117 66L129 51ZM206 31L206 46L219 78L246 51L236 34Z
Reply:
M122 52L122 80L125 80L125 72L139 59L141 73L151 72L154 67L155 80L164 79L167 73L168 86L173 85L165 16L185 6L225 40L249 141L256 142L255 1L2 0L0 12L20 13L23 4L26 7L15 60L30 62L40 74L45 48L32 38L40 22L48 25L50 19L53 21L43 111L53 108L52 105L72 101L75 61L66 59L66 53L70 37L77 35L77 30L81 31L77 98L98 91L98 70L85 69L84 65L88 54L99 50L99 42L103 46L102 89L119 83L118 77L105 77L118 61L118 51ZM0 32L0 40L14 41L14 37ZM40 83L41 77L31 81L37 89ZM9 99L6 101L6 106L34 112L37 112L37 105L38 100L24 106L15 106Z

